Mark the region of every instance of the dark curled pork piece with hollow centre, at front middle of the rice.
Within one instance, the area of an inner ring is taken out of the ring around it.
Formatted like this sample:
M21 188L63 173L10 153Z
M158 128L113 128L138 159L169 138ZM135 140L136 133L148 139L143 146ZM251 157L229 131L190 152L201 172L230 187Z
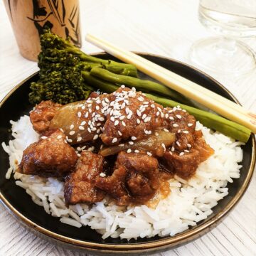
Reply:
M109 193L119 206L144 203L159 188L158 161L146 154L120 152L111 176L97 176L95 186Z

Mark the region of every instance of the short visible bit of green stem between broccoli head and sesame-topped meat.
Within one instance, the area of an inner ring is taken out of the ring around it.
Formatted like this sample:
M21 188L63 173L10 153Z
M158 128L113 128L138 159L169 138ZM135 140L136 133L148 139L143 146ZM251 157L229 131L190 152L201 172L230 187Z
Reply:
M111 93L119 88L119 86L113 85L111 82L106 82L100 78L95 78L94 76L90 75L90 72L88 71L82 71L82 78L89 85L95 87L95 89L100 89L102 92Z

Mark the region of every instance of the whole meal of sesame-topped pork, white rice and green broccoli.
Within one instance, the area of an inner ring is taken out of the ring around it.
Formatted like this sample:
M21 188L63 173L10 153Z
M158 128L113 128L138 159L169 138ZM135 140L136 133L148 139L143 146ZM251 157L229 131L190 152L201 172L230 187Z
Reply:
M49 31L41 46L33 110L2 144L6 178L14 172L42 210L102 238L175 235L213 213L240 176L245 127Z

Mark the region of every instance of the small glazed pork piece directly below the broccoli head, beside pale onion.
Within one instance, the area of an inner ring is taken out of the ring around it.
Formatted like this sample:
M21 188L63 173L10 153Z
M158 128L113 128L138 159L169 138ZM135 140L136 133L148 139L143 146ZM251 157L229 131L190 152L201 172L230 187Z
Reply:
M36 105L35 109L30 113L33 129L39 134L46 132L49 128L50 120L53 119L60 107L62 105L50 100L42 101Z

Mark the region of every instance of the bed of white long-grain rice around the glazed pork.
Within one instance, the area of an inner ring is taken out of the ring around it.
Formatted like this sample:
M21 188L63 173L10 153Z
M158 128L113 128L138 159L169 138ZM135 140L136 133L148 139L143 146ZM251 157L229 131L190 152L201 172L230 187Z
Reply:
M23 149L38 140L28 116L18 122L11 121L14 139L9 145L2 143L9 154L10 168L6 178L15 173L21 161ZM64 203L63 182L57 178L40 178L15 173L16 185L26 189L34 203L42 206L46 213L60 217L60 222L80 228L90 228L102 234L102 238L120 237L122 239L150 238L154 235L175 235L189 226L206 219L217 202L228 195L228 182L240 177L242 161L241 142L212 132L197 122L206 142L215 150L215 154L204 161L196 175L189 181L182 178L171 179L171 193L160 201L156 208L147 206L116 206L107 198L93 206L81 203L67 208Z

